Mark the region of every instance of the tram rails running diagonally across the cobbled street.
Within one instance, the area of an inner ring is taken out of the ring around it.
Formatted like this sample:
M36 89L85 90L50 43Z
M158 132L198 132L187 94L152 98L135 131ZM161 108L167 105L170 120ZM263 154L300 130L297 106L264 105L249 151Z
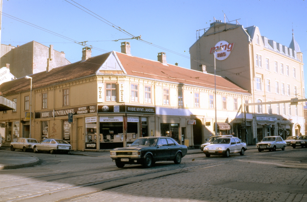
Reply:
M302 150L301 151L292 151L292 150L286 151L286 153L296 153L296 152L302 152ZM283 152L283 153L285 153L285 152ZM12 199L12 200L7 200L7 201L18 201L18 200L24 201L26 199L33 199L35 197L41 197L41 196L44 196L46 194L54 195L54 194L59 193L59 192L76 190L78 188L91 187L91 186L101 185L101 184L110 184L110 185L107 185L105 188L103 188L103 190L107 190L107 189L110 189L110 188L115 188L115 187L119 187L119 186L123 186L123 185L127 185L127 184L133 184L133 183L138 183L140 181L144 181L143 178L142 178L142 180L140 180L140 179L141 179L141 177L146 176L146 175L148 176L148 180L153 180L153 179L157 179L159 177L165 177L165 176L176 175L176 174L181 174L181 173L186 173L186 172L192 172L192 171L196 171L196 170L199 170L199 169L207 169L207 168L211 168L211 167L215 167L215 166L225 165L225 164L228 164L228 163L235 163L239 159L248 161L248 160L253 160L253 159L256 159L256 158L270 157L270 156L280 155L280 154L281 154L280 152L278 152L278 153L277 152L258 153L258 154L252 155L252 156L231 157L231 158L227 158L227 159L223 159L223 160L220 159L218 161L211 161L211 162L198 163L198 164L192 164L192 165L186 165L185 164L185 166L183 166L183 167L182 166L175 166L175 167L173 167L171 169L167 169L167 170L159 169L157 171L146 172L146 173L141 173L141 174L136 174L136 175L132 174L132 175L114 177L114 178L110 178L110 179L103 180L103 181L94 181L94 182L90 182L90 183L73 185L73 186L70 186L70 187L67 187L67 188L64 188L64 189L56 189L56 190L49 191L49 192L42 192L42 193L39 193L39 194L21 197L20 199L14 199L14 200ZM191 161L191 158L182 159L183 163L185 163L186 161ZM205 159L206 157L194 157L194 159L195 158ZM223 162L223 163L217 164L217 165L209 165L209 164L215 164L215 163L220 163L220 162ZM158 163L156 166L163 165L163 164L169 164L169 162L165 162L165 163L161 162L161 163ZM209 166L206 166L204 168L190 169L192 167L197 167L197 166L201 166L201 165L209 165ZM125 168L127 169L129 167L130 166L126 166ZM135 167L135 166L131 166L130 168L133 168L133 167ZM104 172L112 172L112 171L118 171L118 170L125 170L125 168L119 169L117 167L108 167L108 168L101 168L101 169L87 169L87 170L76 171L76 172L65 172L65 173L58 173L58 174L51 174L51 175L35 176L35 178L63 175L63 174L67 174L67 173L69 173L69 174L80 173L80 172L87 172L87 171L92 171L92 170L102 170L102 169L109 169L109 170L106 170ZM176 170L178 170L178 171L176 172ZM95 173L102 173L102 172L100 171L100 172L95 172ZM91 173L91 174L95 174L95 173ZM74 175L74 176L60 177L60 178L56 178L56 179L50 179L50 180L47 180L47 181L41 180L41 181L37 181L37 182L33 182L33 183L24 183L22 185L33 185L33 184L36 184L36 183L39 183L39 182L51 182L51 181L68 179L68 178L72 178L72 177L80 177L80 176L84 176L84 175L88 175L88 174L89 173L84 173L82 175L79 174L79 175ZM17 179L17 180L25 180L25 179L29 179L29 177L24 178L24 179ZM132 180L132 179L135 179L135 180ZM17 180L13 180L13 181L17 181ZM114 183L114 185L111 185L112 182L119 182L119 181L121 181L121 182L120 183ZM0 183L0 186L1 186L1 183ZM0 188L10 188L10 187L16 187L16 186L21 186L21 184L13 185L13 186L0 187ZM67 198L65 200L67 200ZM65 200L58 200L58 201L65 201Z

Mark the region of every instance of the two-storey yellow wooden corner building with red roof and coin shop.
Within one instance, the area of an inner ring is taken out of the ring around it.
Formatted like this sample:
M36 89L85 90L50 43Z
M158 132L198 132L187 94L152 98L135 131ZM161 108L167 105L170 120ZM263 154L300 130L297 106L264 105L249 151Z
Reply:
M130 43L121 52L91 57L15 79L0 85L2 95L17 103L1 116L1 135L7 143L20 137L63 139L73 150L129 146L136 138L168 136L187 146L199 146L214 135L214 75L130 54ZM219 134L242 136L252 131L252 115L244 117L242 104L251 93L216 76ZM30 104L32 113L30 127ZM68 122L68 113L73 122ZM245 119L246 123L245 124Z

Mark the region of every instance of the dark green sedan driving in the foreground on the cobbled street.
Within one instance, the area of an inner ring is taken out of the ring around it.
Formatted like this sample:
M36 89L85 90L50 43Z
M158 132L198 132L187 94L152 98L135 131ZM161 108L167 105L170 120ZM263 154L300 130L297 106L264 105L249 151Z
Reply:
M145 137L136 139L129 147L111 150L110 157L119 168L125 164L142 164L150 168L156 161L174 161L179 164L187 151L187 146L179 145L172 138Z

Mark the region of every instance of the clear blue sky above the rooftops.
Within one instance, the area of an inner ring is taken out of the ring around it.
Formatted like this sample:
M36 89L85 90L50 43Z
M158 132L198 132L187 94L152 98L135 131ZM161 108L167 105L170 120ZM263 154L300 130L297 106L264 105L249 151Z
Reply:
M185 68L190 68L188 50L196 41L196 30L209 27L213 17L224 21L225 13L230 21L241 18L238 21L244 27L258 26L263 36L287 46L292 39L293 25L303 61L307 61L307 6L303 0L76 1L134 36L142 35L143 40L163 48L135 39L112 41L131 36L73 6L69 3L73 3L71 0L67 1L3 0L2 12L72 41L88 41L87 45L95 47L92 56L112 50L120 52L120 42L129 41L134 56L157 60L158 52L166 52L169 64L177 62ZM65 52L70 62L81 60L81 45L9 17L2 16L1 31L2 44L16 46L34 40L46 46L53 44L55 50ZM304 72L307 74L306 70Z

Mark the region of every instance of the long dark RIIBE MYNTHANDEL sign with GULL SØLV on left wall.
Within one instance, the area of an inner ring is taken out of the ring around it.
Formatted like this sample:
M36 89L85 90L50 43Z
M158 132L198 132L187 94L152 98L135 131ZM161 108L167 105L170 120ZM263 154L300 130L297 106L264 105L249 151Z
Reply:
M52 118L52 117L68 116L68 113L72 113L73 115L97 113L97 107L96 105L87 105L83 107L72 107L72 108L66 108L54 111L52 110L40 111L40 112L35 112L35 118Z

